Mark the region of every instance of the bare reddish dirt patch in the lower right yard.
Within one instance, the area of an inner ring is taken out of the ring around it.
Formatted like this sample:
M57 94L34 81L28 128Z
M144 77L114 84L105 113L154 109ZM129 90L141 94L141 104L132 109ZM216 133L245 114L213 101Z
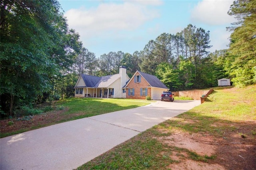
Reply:
M226 134L225 138L216 138L209 134L189 134L175 130L171 135L158 138L168 146L178 147L170 155L175 163L166 169L172 170L256 170L256 136L252 134L256 122L250 122L243 128L246 136L237 132ZM238 125L236 125L238 126ZM190 153L213 159L195 160Z

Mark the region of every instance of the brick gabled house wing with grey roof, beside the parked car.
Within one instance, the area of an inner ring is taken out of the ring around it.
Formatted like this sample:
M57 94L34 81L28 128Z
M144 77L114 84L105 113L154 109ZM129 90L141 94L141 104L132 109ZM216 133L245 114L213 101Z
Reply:
M162 92L168 90L156 76L141 71L136 71L123 89L128 99L145 99L150 96L152 100L161 99Z

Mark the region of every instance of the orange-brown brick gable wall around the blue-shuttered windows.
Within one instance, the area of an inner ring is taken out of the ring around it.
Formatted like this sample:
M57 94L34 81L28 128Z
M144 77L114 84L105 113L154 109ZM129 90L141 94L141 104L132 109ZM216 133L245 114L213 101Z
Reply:
M140 75L139 73L136 73L134 77L137 75ZM146 96L140 96L140 88L148 88L148 82L141 76L140 83L134 83L134 77L132 77L132 80L127 85L129 89L134 89L134 96L130 96L128 89L126 89L126 98L127 99L146 99ZM148 88L148 94L147 96L151 97L151 88Z

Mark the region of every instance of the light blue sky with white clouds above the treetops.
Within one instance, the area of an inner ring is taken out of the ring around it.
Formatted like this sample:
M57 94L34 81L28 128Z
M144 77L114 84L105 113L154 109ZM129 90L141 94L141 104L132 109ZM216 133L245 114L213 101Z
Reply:
M69 28L96 57L110 51L134 53L162 33L176 34L188 24L210 31L212 47L226 49L234 22L232 0L59 0Z

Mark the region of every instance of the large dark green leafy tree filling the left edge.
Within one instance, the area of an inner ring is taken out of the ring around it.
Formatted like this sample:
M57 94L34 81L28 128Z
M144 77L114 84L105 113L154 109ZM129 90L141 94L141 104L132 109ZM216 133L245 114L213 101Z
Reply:
M57 0L1 0L0 10L1 110L12 116L54 89L81 43Z

